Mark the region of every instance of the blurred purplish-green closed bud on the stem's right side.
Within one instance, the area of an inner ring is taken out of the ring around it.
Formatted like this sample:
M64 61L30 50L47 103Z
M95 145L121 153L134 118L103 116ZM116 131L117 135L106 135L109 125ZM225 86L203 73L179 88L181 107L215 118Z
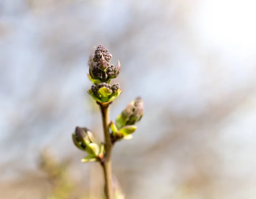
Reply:
M144 102L141 97L137 97L116 118L116 126L118 129L126 125L134 125L143 117Z

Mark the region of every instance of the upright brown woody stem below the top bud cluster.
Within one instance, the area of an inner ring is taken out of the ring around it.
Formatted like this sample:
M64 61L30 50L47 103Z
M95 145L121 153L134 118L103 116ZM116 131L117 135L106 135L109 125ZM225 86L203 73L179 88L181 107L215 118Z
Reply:
M105 145L106 145L104 161L102 162L102 167L103 167L104 177L105 177L105 195L107 199L113 199L112 179L111 179L112 142L111 142L111 136L109 134L109 105L99 103L99 107L102 114L102 124L103 124L104 139L105 139Z

